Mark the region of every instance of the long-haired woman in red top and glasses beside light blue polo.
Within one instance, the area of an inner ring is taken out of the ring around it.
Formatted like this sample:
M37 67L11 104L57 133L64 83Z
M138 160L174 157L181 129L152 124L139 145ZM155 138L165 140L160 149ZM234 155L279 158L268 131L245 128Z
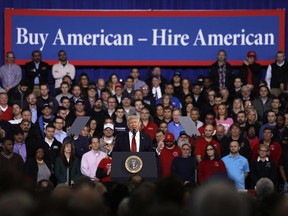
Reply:
M213 144L207 144L203 160L199 163L198 182L202 184L205 180L215 176L227 176L224 162L217 153Z

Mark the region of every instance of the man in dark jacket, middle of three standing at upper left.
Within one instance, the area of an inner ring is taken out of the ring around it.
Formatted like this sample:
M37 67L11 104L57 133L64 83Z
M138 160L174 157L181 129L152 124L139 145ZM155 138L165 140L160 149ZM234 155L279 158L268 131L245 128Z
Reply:
M30 91L36 90L42 83L48 83L48 64L41 61L41 52L34 50L32 52L32 61L25 65L26 78ZM39 96L39 95L37 95Z

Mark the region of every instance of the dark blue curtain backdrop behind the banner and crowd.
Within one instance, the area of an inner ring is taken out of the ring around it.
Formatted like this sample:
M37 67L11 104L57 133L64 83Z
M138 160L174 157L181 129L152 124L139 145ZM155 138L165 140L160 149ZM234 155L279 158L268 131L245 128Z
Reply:
M30 9L90 9L90 10L240 10L240 9L283 9L288 7L287 0L1 0L0 1L0 35L4 35L4 10L5 8L30 8ZM287 16L287 15L286 15ZM287 18L286 18L287 20ZM287 21L286 21L287 23ZM40 25L41 23L39 23ZM265 25L265 23L259 23ZM285 31L287 34L287 29ZM4 37L0 37L0 65L4 63ZM287 43L286 49L287 50ZM57 54L55 53L55 56ZM16 53L17 58L17 53ZM69 53L68 53L69 58ZM216 58L216 53L215 53ZM45 60L45 59L44 59ZM229 61L229 53L228 53ZM151 65L152 66L152 65ZM111 73L117 73L125 79L129 74L129 68L113 67L77 67L77 76L86 72L92 81L98 77L107 79ZM263 67L263 76L265 74ZM141 67L141 78L146 79L151 72L150 67ZM208 68L205 67L169 67L162 68L164 75L171 79L174 71L182 73L183 77L189 77L193 82L200 75L206 75ZM237 68L235 68L237 73ZM25 76L25 73L23 74ZM50 79L51 84L53 78Z

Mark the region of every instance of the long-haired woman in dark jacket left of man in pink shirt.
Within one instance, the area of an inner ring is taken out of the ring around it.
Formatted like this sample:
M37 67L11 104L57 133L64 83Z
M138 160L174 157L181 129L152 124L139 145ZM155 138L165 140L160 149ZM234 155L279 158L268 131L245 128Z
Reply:
M69 186L81 176L80 160L75 156L75 148L70 141L65 141L60 149L60 156L55 162L55 175L58 184Z

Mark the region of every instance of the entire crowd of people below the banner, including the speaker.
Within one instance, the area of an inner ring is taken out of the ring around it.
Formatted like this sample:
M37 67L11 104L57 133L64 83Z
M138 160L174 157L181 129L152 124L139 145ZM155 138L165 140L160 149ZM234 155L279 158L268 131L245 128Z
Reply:
M221 182L230 179L238 190L258 189L257 196L264 196L261 187L271 194L288 192L288 63L284 52L276 53L276 61L261 80L262 67L254 51L247 53L235 73L226 52L220 50L209 75L193 84L177 71L172 80L166 80L160 67L154 67L147 80L140 79L136 67L124 82L115 73L108 80L90 80L86 73L75 80L76 70L66 52L60 50L58 57L59 63L52 66L53 95L48 85L50 68L40 51L33 51L33 60L24 67L25 77L14 63L13 52L6 53L7 63L0 68L0 176L3 184L14 178L6 190L17 188L21 174L23 183L36 189L38 196L49 192L50 198L70 202L83 196L99 204L83 201L73 207L58 206L55 211L68 209L73 214L74 208L84 211L87 205L87 212L99 208L103 215L144 215L148 211L144 207L156 203L172 214L175 211L167 203L176 209L188 207L187 197L201 190L203 200L193 203L192 212L211 215L209 209L206 214L198 212L207 208L202 206L210 200L206 193L213 194L210 201L221 195L220 189L209 188L210 181L225 191L228 186ZM79 134L67 135L80 116L90 117L87 125ZM188 135L180 116L191 119L198 135ZM131 176L126 185L113 182L110 174L117 151L155 152L159 182L145 182L139 175ZM196 190L197 185L203 189ZM88 193L83 189L86 186L106 193ZM77 192L69 197L73 189ZM229 193L239 203L251 205L251 200L244 201L233 191ZM274 198L282 200L275 194ZM100 203L112 213L100 208ZM252 215L253 208L249 206L248 214ZM255 209L260 211L258 206ZM186 210L179 214L189 214ZM160 209L149 212L159 213Z

